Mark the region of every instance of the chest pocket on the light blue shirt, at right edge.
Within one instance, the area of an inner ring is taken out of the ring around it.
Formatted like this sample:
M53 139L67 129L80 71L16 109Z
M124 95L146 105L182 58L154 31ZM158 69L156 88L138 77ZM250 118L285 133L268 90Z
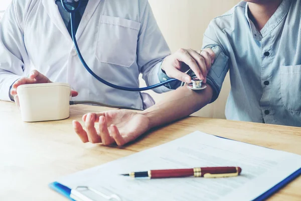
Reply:
M280 66L280 94L284 108L301 111L301 65Z

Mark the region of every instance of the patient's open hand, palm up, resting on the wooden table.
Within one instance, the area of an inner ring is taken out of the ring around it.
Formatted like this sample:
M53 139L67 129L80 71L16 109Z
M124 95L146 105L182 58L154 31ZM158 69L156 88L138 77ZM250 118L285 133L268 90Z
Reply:
M130 110L112 110L103 113L89 113L83 116L85 130L78 121L73 128L81 141L102 145L122 146L135 140L149 128L149 119ZM95 123L96 129L95 129Z

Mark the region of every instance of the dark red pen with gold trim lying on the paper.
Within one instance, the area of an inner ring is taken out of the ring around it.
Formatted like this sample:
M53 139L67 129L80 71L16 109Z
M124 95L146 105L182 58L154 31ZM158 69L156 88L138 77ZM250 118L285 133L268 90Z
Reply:
M197 167L189 169L163 169L163 170L148 170L144 172L130 172L121 174L130 177L149 177L149 178L172 178L172 177L230 177L238 176L241 172L240 167Z

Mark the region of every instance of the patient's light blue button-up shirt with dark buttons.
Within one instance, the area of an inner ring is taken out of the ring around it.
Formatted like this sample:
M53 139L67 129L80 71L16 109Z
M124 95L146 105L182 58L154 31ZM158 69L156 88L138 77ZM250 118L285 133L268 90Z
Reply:
M231 91L226 118L301 126L301 1L283 0L261 31L241 2L215 18L203 48L217 54L208 83L217 98L226 73Z

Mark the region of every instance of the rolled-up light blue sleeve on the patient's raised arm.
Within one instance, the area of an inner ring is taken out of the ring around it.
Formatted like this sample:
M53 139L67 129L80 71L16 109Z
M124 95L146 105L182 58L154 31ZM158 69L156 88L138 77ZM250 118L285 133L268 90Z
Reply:
M219 27L216 25L216 22L213 20L209 24L204 34L203 47L202 47L202 49L211 48L215 53L214 63L207 74L207 83L210 84L213 89L213 96L211 99L211 103L218 98L224 79L229 70L229 64L228 64L229 57L225 54L223 44L218 39L217 36L218 30Z

